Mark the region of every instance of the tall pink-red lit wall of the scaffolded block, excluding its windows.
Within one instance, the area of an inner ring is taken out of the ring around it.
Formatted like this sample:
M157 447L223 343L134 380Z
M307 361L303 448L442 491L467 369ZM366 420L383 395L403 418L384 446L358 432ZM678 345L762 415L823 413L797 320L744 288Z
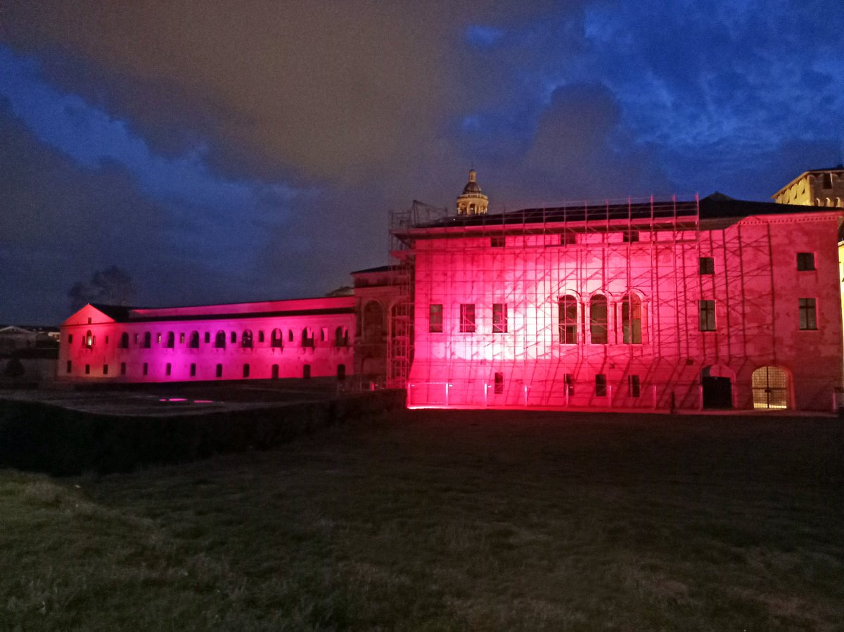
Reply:
M697 409L706 374L728 378L733 406L752 408L754 372L775 367L787 375L789 408L830 410L841 385L840 215L646 226L637 242L607 226L569 245L561 224L508 226L503 248L490 244L501 226L417 229L408 405L647 409L670 406L674 394L679 408ZM814 270L798 271L798 253L814 255ZM701 274L701 258L712 259L712 274ZM591 340L598 294L608 303L606 344ZM629 294L641 301L637 344L625 344L621 326ZM575 344L560 340L564 296L576 298ZM816 329L800 329L799 298L814 299ZM701 300L714 301L711 331L701 331ZM432 303L443 306L441 332L430 331ZM493 332L496 303L506 305L506 332ZM462 304L474 306L474 332L460 330Z

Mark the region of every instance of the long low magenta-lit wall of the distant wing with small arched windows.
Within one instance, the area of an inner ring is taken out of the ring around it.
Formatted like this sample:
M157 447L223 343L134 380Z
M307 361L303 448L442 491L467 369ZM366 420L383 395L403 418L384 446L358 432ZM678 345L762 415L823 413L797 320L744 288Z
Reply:
M65 321L58 378L165 382L354 373L353 297L136 309L119 320L87 305Z

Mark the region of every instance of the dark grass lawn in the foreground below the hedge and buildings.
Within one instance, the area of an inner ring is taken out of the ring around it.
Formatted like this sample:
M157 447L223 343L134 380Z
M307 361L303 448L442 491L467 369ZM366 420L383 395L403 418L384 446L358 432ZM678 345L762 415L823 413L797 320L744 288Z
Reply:
M0 629L841 630L837 419L406 411L0 472Z

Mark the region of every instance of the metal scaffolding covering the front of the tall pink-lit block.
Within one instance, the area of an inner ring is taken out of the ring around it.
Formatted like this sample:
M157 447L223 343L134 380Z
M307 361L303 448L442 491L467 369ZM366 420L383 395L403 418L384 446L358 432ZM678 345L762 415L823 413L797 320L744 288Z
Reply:
M627 374L636 372L641 398L663 406L672 384L694 384L701 371L700 363L692 360L706 345L696 305L706 290L702 285L709 281L697 270L686 270L690 258L684 256L693 251L695 264L701 257L700 227L697 196L577 202L470 216L448 216L414 202L411 209L391 215L391 252L403 274L398 275L402 300L393 314L388 346L388 381L407 384L414 359L414 313L417 328L427 322L427 314L414 309L415 289L425 294L420 298L426 304L435 300L452 311L461 303L484 309L503 304L506 310L506 335L490 335L484 313L478 319L483 335L452 338L439 354L460 358L468 370L428 357L427 372L414 372L419 374L412 386L426 390L427 400L488 405L489 393L501 389L505 393L500 401L506 405L568 405L570 394L586 391L576 380L619 368L608 384L604 405L625 400L633 384ZM417 270L417 239L441 240L425 252L424 270ZM437 296L432 298L431 292ZM561 346L560 297L578 297L578 337L583 343L595 335L590 297L601 293L607 299L607 343ZM642 299L648 357L642 351L646 345L621 344L622 300L630 300L625 297L633 293ZM417 345L429 344L426 331L419 331ZM517 378L495 384L496 366L506 366ZM567 384L563 399L560 384ZM446 392L431 395L441 389ZM676 395L678 406L690 406L699 394L686 389ZM598 405L593 399L590 396L588 405Z

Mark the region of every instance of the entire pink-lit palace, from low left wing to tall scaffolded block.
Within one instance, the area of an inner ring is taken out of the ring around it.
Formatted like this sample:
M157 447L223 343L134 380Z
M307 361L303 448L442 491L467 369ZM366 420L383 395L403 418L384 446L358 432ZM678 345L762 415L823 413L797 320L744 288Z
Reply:
M714 194L490 214L470 172L456 215L393 216L396 263L354 272L351 297L88 306L62 326L59 375L354 373L406 388L408 406L830 410L841 178L806 172L778 204Z

